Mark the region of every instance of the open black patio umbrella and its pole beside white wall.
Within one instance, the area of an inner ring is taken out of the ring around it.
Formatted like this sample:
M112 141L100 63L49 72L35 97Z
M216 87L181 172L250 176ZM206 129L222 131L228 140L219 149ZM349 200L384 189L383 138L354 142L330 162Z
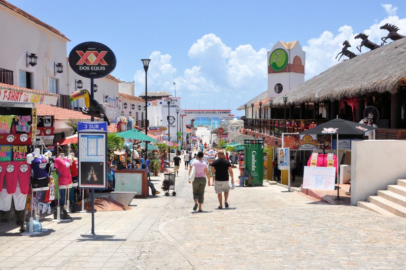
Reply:
M323 124L317 125L311 129L300 132L299 135L306 134L336 134L337 135L337 198L340 200L340 164L338 163L339 158L339 134L346 135L361 135L365 132L372 131L376 127L367 126L357 122L352 122L340 118L335 118Z

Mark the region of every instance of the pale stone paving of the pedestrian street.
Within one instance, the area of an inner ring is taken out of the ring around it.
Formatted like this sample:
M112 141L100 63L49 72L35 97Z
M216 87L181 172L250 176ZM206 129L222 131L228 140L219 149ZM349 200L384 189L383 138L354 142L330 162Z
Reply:
M96 235L88 213L59 224L46 216L49 231L33 237L21 237L13 220L1 223L0 268L406 268L406 219L266 183L235 188L223 210L216 209L214 187L206 187L204 212L193 213L186 174L181 168L176 196L161 193L134 199L130 211L96 213ZM157 188L162 178L153 177Z

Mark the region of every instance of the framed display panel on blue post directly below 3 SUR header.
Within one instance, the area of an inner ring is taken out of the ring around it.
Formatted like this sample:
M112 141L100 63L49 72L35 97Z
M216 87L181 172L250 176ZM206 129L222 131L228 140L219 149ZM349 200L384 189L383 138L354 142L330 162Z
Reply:
M107 188L105 132L79 132L79 187Z

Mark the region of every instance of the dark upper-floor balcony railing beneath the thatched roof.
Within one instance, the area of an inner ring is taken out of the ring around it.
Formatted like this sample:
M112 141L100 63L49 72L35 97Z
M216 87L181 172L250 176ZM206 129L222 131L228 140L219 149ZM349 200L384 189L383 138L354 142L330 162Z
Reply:
M244 128L250 129L255 132L267 134L270 136L282 137L282 133L296 133L303 130L310 129L324 123L323 120L307 119L257 119L257 118L245 118Z

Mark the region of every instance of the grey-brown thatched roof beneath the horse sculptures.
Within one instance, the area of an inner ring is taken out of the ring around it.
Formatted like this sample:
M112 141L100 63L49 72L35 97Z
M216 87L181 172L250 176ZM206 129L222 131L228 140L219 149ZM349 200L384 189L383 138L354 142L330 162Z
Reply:
M338 63L300 84L288 94L288 104L323 102L366 93L395 93L406 76L406 38ZM283 96L274 99L283 106Z

